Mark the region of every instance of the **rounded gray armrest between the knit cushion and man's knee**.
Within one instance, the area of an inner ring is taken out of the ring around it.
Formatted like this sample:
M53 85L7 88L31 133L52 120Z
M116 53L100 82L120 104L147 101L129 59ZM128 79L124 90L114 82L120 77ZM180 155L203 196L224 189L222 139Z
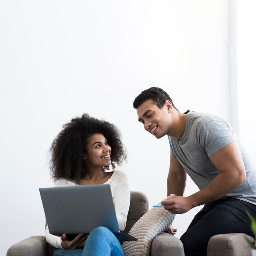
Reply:
M151 256L184 256L182 241L168 233L156 236L151 245Z

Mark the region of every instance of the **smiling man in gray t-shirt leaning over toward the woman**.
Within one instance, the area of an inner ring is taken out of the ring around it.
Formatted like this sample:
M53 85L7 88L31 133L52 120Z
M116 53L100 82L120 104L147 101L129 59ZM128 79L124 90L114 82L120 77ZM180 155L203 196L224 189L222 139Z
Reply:
M180 113L160 88L141 92L133 107L145 130L157 139L168 135L167 193L175 196L164 208L180 214L205 204L180 238L185 255L206 255L216 234L253 236L245 209L256 217L256 172L233 128L213 115ZM187 174L200 191L184 197Z

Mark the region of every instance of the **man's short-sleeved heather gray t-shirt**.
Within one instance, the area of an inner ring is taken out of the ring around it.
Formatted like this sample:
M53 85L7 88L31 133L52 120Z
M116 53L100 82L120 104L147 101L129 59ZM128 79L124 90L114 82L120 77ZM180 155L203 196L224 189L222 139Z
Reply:
M188 112L185 132L180 140L168 136L170 154L201 190L220 173L209 157L233 141L238 143L247 180L223 198L238 198L256 204L256 171L240 139L225 120L213 115Z

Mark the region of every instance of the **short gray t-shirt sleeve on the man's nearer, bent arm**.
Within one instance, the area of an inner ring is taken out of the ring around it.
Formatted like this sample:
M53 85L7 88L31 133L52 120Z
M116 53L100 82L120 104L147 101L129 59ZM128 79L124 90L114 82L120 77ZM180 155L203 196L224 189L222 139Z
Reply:
M207 116L198 124L198 140L208 157L235 141L229 124L214 116Z

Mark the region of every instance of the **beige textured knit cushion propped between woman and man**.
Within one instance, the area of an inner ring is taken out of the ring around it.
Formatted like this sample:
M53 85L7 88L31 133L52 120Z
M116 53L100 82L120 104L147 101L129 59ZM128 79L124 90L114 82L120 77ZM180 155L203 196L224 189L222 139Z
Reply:
M169 199L173 194L169 195ZM164 200L166 200L164 199ZM137 241L124 242L122 247L125 256L148 256L152 240L155 236L166 230L175 218L175 214L165 210L164 207L155 207L145 213L130 229L129 234L135 236Z

